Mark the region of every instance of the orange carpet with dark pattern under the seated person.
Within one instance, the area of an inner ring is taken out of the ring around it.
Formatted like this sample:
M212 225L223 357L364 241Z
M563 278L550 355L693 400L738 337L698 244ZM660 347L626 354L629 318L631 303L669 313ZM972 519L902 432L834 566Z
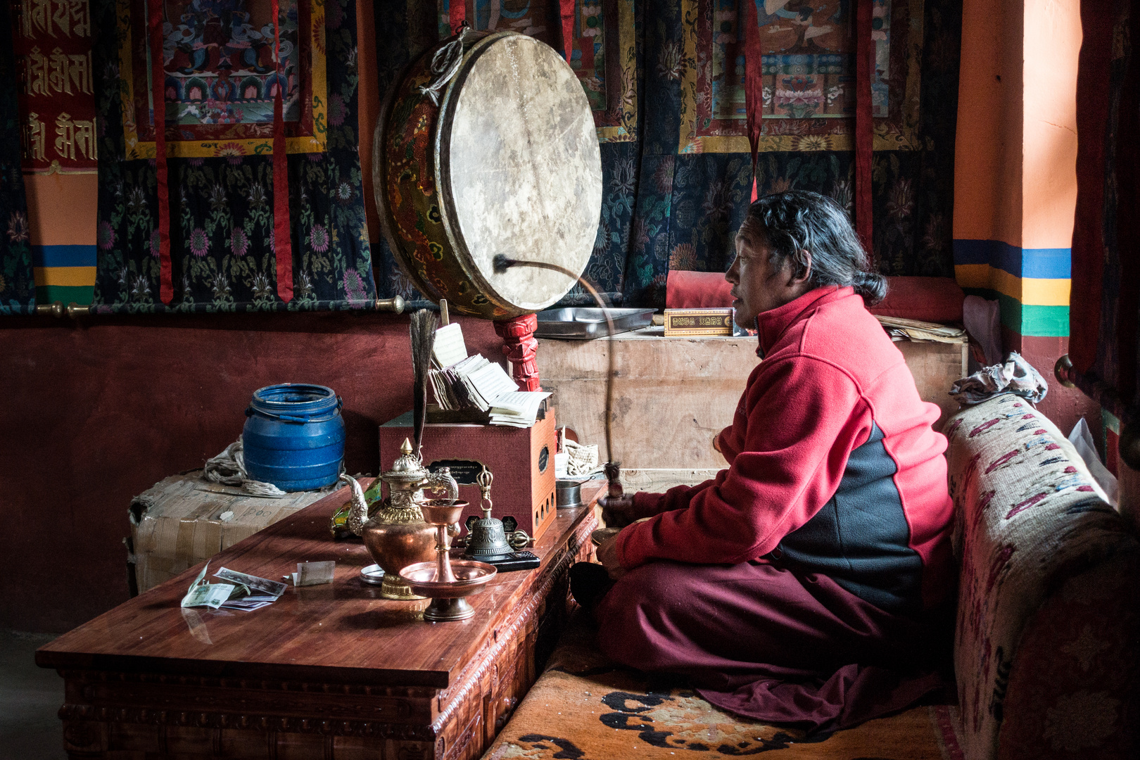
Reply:
M605 660L576 622L484 760L961 760L956 710L912 708L830 736L805 738L717 710L695 692ZM699 754L697 754L699 753Z

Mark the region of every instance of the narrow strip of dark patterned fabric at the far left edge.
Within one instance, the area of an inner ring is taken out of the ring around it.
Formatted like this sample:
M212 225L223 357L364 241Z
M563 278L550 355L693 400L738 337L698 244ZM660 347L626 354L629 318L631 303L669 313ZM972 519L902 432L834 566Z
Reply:
M11 40L8 14L0 14L0 40ZM27 197L19 167L18 84L13 47L0 44L0 314L35 310Z

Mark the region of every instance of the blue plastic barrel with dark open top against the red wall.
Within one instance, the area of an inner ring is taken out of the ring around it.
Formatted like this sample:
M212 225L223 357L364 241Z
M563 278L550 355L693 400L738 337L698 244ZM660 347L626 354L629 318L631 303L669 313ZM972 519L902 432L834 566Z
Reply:
M245 410L242 450L253 480L283 491L332 485L344 459L341 399L324 385L282 383L258 390Z

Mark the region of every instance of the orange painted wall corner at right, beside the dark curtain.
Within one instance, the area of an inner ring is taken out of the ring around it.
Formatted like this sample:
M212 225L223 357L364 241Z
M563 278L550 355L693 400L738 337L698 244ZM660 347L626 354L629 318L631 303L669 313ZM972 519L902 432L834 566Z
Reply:
M1080 0L964 0L954 156L955 255L956 242L1005 243L1026 258L1033 250L1070 247L1080 49ZM963 287L986 286L962 279L962 270L975 267L956 267ZM1067 293L1067 281L1026 279L995 267L988 278L990 291L1016 300L1017 309L1042 303L1045 285L1051 297ZM1045 415L1064 431L1081 416L1099 426L1093 402L1052 382L1053 363L1068 350L1068 337L1023 335L1004 325L1002 332L1004 349L1021 352L1050 382L1041 404Z

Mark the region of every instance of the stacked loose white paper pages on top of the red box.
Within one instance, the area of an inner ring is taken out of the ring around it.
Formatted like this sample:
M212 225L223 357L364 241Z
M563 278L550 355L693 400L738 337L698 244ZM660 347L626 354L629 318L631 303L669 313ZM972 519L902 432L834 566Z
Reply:
M427 376L441 409L487 411L491 425L530 427L543 400L549 395L542 391L520 391L503 367L482 354L469 357L458 322L435 332L432 369Z

